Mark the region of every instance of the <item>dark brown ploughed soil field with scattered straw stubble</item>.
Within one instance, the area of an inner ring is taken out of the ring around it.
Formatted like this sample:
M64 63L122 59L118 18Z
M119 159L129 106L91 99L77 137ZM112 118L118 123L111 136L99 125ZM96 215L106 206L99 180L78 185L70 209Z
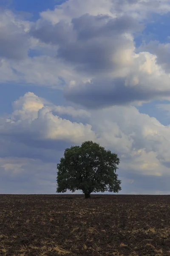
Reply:
M0 195L0 255L170 256L170 195Z

